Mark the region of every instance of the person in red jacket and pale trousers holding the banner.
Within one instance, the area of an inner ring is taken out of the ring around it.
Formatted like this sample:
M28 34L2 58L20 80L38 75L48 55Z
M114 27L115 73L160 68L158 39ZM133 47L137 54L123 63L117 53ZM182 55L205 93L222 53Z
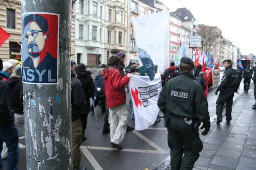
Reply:
M131 74L122 76L117 68L120 63L118 56L108 59L108 66L104 70L104 85L107 107L109 108L110 138L112 147L122 150L120 143L125 137L128 124L128 111L125 107L125 85L128 84Z

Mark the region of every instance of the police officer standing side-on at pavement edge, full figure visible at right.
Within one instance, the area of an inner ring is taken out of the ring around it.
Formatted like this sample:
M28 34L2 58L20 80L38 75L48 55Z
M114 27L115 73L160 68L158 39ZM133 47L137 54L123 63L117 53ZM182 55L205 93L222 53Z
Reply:
M225 102L227 123L229 123L232 119L231 111L233 105L233 96L239 87L239 75L237 71L232 68L232 61L230 59L226 59L223 64L226 71L224 71L222 75L221 84L215 91L216 95L218 95L218 91L221 91L216 101L217 124L222 122L222 110Z

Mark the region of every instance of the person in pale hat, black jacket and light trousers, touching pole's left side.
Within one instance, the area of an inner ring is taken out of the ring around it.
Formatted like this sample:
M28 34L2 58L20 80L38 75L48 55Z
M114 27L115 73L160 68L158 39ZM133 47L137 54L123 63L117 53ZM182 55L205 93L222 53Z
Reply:
M10 77L7 80L7 84L10 90L10 99L12 109L15 114L15 124L18 127L20 136L25 135L24 128L24 114L23 114L23 91L22 91L22 78L21 78L21 66L15 67L15 76Z

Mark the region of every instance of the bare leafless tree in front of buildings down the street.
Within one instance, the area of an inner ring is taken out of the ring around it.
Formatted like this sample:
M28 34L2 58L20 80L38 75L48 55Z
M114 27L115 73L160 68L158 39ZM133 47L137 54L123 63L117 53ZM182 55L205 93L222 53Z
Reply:
M198 25L197 34L201 36L202 49L206 54L223 39L221 33L221 29L216 26Z

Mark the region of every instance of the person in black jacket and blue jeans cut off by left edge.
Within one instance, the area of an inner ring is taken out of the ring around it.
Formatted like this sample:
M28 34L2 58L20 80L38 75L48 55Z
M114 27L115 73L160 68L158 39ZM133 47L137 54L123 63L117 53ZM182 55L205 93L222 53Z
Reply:
M0 71L3 69L3 61L0 59ZM8 148L6 162L7 170L17 170L19 160L19 134L15 125L14 112L11 107L8 85L3 81L0 73L0 153L3 150L3 142ZM0 167L3 168L2 156L0 154Z

